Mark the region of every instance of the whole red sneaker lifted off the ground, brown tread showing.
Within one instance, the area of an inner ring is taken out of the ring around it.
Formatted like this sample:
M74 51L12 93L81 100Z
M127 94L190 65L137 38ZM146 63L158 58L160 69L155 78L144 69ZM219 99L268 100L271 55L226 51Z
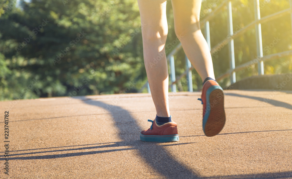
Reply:
M203 131L206 136L217 135L225 124L224 93L215 80L204 83L201 99L203 104Z

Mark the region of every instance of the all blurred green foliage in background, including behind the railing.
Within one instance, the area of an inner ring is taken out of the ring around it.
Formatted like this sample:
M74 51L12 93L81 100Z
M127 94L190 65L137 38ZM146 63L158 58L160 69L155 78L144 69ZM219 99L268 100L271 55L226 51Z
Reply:
M201 19L223 0L203 0ZM288 0L260 0L261 16L289 7ZM253 0L232 1L234 31L254 20ZM179 43L167 3L166 54ZM202 32L204 34L204 27ZM211 46L227 37L227 12L210 21ZM264 55L291 50L290 15L262 24ZM268 49L274 38L279 42ZM236 65L256 57L255 30L234 40ZM215 76L229 69L228 47L213 55ZM185 55L175 55L175 73L185 71ZM193 72L193 88L201 79ZM265 63L265 73L291 72L291 58ZM237 80L257 74L257 66L237 72ZM147 80L136 0L0 0L0 100L137 92ZM222 80L221 85L230 83ZM187 90L183 78L178 90ZM146 89L144 89L145 91Z

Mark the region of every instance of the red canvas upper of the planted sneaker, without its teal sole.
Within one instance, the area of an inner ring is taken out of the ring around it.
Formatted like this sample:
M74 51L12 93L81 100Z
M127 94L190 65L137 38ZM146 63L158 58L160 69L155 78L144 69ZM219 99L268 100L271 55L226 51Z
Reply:
M178 134L178 125L175 122L168 122L161 126L157 125L156 120L154 120L151 127L148 130L141 131L142 135L154 135L154 136L166 136Z

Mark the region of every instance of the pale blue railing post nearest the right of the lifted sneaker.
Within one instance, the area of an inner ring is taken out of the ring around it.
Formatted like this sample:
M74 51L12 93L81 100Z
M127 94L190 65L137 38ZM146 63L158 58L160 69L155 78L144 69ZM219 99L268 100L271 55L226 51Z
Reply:
M233 36L233 23L232 23L232 6L231 1L227 2L227 11L228 11L228 33L229 36ZM230 38L230 42L228 43L229 47L229 56L230 56L230 83L233 84L236 82L236 76L235 76L235 57L234 57L234 41L233 38Z

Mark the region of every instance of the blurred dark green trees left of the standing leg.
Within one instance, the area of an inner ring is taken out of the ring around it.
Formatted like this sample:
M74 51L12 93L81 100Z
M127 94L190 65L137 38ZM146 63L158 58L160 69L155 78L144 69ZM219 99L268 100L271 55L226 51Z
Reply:
M136 0L11 3L1 0L1 100L136 92L147 80Z

